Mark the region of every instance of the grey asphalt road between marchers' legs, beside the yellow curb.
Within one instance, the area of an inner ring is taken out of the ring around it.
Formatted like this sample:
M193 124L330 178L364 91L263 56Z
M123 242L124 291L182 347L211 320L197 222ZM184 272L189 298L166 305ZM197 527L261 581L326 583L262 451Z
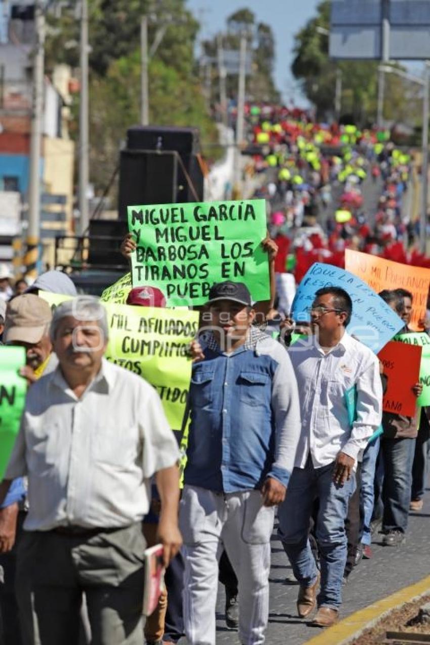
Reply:
M430 495L424 508L410 516L407 543L398 548L384 547L380 535L373 544L373 559L360 562L344 587L341 618L430 574ZM291 582L291 568L277 536L272 536L269 626L266 642L270 645L302 645L321 633L299 620L295 611L298 586ZM288 583L286 583L288 579ZM217 606L217 643L237 645L237 633L226 630L224 590L219 587ZM181 645L186 640L181 639Z

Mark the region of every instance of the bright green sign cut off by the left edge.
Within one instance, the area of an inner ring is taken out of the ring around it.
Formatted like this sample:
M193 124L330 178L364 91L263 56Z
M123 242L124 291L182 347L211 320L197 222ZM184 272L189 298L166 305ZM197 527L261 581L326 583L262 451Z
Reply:
M24 410L27 384L18 374L24 365L23 347L0 346L0 479L5 475Z

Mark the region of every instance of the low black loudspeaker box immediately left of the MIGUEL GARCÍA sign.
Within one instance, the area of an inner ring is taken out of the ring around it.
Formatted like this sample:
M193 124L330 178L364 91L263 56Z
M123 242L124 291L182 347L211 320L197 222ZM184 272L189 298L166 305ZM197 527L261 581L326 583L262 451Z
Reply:
M128 266L119 247L128 233L126 222L117 219L91 219L88 237L90 248L88 263L107 268Z

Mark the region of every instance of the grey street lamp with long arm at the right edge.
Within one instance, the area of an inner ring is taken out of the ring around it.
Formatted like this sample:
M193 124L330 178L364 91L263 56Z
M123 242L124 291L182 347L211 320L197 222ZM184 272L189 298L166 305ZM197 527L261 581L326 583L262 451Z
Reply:
M380 74L396 74L412 83L422 86L424 94L422 98L422 208L420 216L420 250L425 253L425 229L427 228L427 202L429 197L429 61L425 61L424 78L408 74L403 70L389 65L379 65Z

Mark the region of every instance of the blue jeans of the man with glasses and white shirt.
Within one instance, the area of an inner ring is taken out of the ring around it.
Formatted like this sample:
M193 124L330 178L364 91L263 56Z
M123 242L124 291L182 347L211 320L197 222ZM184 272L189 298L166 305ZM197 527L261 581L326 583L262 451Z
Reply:
M355 475L342 487L332 477L333 463L314 468L311 457L305 468L293 470L286 499L278 510L278 533L298 582L311 586L318 571L309 545L309 519L313 501L318 498L316 536L321 562L318 606L337 609L342 603L347 555L345 520L349 497L355 490Z

